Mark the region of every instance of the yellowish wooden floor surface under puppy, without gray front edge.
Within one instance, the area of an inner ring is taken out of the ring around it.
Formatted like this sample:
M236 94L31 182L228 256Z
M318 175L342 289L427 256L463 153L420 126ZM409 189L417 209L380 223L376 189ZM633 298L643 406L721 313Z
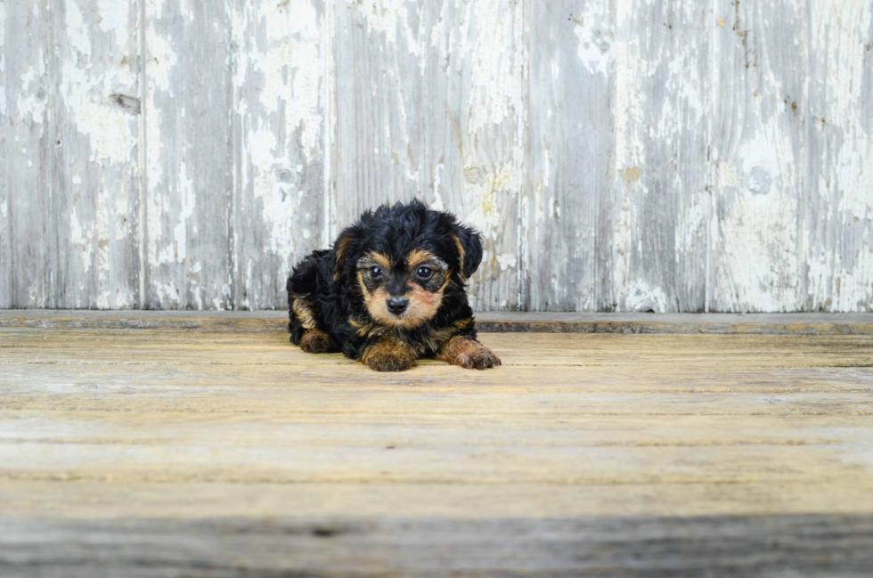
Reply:
M0 330L0 512L873 510L869 336L482 339L501 368L380 374L281 332Z

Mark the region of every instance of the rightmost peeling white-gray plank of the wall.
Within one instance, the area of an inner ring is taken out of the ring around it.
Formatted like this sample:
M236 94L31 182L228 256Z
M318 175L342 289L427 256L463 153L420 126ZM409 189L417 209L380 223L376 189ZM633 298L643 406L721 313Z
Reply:
M873 5L810 0L804 308L873 310Z

